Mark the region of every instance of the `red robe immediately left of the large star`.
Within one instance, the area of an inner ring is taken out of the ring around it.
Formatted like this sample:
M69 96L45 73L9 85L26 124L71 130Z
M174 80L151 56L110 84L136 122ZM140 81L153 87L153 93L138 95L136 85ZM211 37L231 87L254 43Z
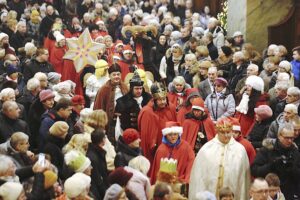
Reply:
M57 47L56 45L54 45L51 52L52 53L49 58L49 62L53 65L53 68L57 73L62 74L62 70L64 67L63 56L65 55L66 49L65 47Z

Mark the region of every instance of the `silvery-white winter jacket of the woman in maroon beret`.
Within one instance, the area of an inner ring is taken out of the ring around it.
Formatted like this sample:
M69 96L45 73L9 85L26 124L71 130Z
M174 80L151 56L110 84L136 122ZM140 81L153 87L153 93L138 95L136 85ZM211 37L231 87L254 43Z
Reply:
M217 121L221 117L233 116L235 113L235 100L233 95L229 94L227 88L220 96L215 92L209 94L205 99L204 105L208 108L213 121Z

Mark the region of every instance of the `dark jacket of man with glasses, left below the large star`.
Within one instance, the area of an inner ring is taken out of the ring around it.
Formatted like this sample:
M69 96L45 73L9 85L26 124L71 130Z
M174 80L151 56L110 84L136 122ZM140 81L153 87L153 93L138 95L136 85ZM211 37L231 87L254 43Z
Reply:
M24 69L24 81L27 83L37 72L43 72L46 75L49 72L54 72L53 66L49 62L38 62L32 59Z

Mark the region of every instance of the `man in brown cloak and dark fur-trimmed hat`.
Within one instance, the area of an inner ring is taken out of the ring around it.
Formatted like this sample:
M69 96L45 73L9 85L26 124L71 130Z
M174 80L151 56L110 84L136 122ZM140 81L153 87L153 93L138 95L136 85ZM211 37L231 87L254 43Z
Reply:
M121 81L121 69L118 64L113 64L109 69L109 80L97 92L94 110L102 109L108 117L107 135L108 139L114 143L114 110L118 98L125 95L128 90L126 85Z

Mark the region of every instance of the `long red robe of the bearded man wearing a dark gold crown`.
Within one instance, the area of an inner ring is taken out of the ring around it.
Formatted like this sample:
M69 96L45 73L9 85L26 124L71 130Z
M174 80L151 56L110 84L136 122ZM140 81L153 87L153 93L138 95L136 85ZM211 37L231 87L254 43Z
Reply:
M144 156L153 162L156 147L161 144L161 130L167 121L176 121L176 109L169 104L162 110L153 109L153 100L142 108L138 116L138 128L141 134L141 147Z

